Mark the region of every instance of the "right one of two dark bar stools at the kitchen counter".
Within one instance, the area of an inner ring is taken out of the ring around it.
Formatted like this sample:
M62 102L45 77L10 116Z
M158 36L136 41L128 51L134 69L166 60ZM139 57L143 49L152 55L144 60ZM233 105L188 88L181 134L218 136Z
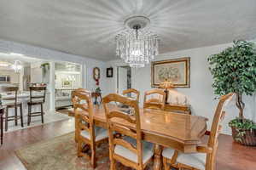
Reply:
M46 87L30 87L30 99L27 102L28 105L28 114L27 114L27 126L30 125L32 116L41 116L42 123L44 123L44 102L45 102L45 93ZM35 94L35 92L37 94ZM43 93L42 93L43 92ZM32 105L40 105L41 110L32 112Z

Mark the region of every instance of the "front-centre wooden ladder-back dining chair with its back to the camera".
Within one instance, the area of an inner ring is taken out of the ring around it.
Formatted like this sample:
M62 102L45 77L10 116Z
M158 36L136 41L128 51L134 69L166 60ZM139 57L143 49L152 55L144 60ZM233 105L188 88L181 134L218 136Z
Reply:
M102 101L108 127L110 169L116 169L116 161L119 161L127 167L143 170L154 156L154 144L143 141L138 101L119 94L108 94ZM129 116L119 110L110 111L110 102L129 105L134 115ZM119 122L125 122L127 126ZM114 132L122 136L116 136Z

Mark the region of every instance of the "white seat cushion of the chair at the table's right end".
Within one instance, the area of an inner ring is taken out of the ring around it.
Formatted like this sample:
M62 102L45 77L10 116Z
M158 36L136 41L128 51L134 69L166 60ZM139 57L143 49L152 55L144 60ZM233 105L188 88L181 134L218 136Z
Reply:
M162 152L162 156L168 159L172 159L173 154L174 154L174 150L170 148L167 148ZM182 163L184 165L188 165L190 167L195 167L201 170L205 170L206 160L207 160L207 154L204 154L204 153L184 154L182 152L178 152L177 154L177 162Z

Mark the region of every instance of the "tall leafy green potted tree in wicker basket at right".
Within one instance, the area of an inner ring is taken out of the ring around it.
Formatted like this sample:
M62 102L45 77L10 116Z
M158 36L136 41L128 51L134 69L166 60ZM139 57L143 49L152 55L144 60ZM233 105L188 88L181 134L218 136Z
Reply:
M214 94L236 93L239 116L229 122L233 139L245 145L256 145L256 124L244 117L242 95L256 92L256 49L253 42L234 41L233 47L208 58L213 77Z

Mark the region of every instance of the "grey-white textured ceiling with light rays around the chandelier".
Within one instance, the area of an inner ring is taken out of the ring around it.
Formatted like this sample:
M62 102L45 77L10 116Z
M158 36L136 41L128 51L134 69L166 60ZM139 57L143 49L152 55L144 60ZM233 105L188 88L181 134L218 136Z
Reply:
M124 20L145 15L160 54L256 37L255 0L0 0L0 38L117 59Z

